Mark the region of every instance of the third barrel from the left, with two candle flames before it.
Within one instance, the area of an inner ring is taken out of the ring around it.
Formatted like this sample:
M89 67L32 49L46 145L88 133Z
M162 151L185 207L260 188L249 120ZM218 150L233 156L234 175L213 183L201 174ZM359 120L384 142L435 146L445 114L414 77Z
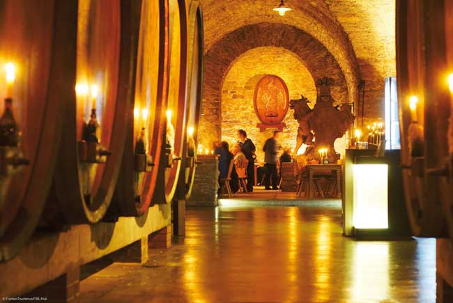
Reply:
M139 216L149 208L164 138L169 69L168 1L141 1L133 118L127 126L113 215Z

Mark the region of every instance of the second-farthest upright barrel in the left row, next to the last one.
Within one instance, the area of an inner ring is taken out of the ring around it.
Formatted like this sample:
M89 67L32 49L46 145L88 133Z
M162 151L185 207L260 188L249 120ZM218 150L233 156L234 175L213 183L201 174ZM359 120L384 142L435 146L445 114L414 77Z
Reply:
M185 147L187 98L187 18L186 0L169 0L169 73L167 119L158 169L154 203L170 203L176 192Z

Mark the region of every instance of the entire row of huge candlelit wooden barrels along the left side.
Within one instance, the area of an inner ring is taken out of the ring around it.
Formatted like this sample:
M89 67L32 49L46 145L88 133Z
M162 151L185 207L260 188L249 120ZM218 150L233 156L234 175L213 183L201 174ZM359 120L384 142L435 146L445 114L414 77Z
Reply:
M0 15L0 261L45 210L95 223L190 195L199 1L6 0Z

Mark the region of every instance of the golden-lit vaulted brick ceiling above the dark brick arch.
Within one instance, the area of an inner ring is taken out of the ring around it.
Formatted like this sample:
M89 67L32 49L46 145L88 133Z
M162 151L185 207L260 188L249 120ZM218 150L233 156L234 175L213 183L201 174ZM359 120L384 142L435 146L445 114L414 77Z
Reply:
M341 68L350 101L359 79L357 59L348 35L323 0L286 0L286 16L272 11L279 0L201 0L204 8L205 51L227 33L258 23L286 24L305 31L335 57Z

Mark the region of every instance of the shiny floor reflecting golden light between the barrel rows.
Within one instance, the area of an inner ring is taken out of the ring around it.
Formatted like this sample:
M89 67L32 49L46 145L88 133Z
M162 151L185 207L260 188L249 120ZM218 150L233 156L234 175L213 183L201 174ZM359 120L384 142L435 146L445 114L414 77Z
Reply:
M355 241L336 209L195 208L187 236L146 265L114 263L82 302L436 301L435 240Z

